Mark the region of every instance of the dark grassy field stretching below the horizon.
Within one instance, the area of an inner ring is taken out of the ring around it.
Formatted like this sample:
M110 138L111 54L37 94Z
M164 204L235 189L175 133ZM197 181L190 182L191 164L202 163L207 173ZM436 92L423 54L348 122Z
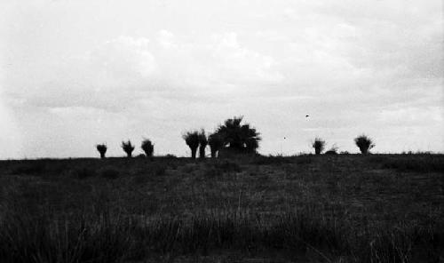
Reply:
M0 162L0 262L444 262L444 155Z

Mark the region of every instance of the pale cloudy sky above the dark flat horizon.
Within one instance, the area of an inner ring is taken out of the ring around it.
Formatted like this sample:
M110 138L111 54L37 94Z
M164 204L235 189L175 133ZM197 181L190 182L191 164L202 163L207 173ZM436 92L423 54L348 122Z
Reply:
M233 116L264 155L444 152L442 1L0 1L0 159L188 155Z

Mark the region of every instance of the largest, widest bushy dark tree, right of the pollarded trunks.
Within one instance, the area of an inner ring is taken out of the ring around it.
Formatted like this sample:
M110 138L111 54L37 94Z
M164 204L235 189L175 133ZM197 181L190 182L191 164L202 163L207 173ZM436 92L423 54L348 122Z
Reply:
M241 124L242 116L227 119L216 131L224 139L224 147L242 153L254 153L259 147L259 132L250 124Z

